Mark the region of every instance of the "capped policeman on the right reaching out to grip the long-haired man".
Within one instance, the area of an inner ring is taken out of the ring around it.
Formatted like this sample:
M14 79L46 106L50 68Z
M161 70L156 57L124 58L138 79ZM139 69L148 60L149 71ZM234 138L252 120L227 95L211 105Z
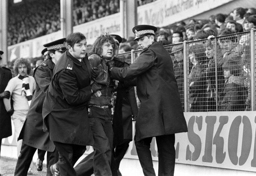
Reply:
M173 63L169 53L154 40L157 28L138 25L133 28L135 39L142 49L130 66L114 67L108 62L111 78L116 80L137 77L137 95L141 102L135 124L134 142L144 175L155 175L150 151L152 137L158 148L158 175L174 174L175 133L187 132Z

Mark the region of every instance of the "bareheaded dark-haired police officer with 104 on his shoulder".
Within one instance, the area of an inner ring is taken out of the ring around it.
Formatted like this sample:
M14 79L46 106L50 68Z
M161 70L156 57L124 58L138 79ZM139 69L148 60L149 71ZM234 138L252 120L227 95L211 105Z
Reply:
M51 170L54 174L59 170L61 176L75 176L74 164L86 145L94 143L87 105L95 90L90 85L86 44L82 33L67 36L68 50L54 67L43 104L44 131L59 151L59 161Z

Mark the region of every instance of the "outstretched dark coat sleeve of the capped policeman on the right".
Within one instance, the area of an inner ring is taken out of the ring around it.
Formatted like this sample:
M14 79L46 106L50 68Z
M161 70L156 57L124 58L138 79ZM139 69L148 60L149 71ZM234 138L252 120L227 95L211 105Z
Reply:
M137 60L131 65L123 68L113 67L111 70L111 78L116 80L132 79L146 72L156 61L156 54L148 48L144 49Z

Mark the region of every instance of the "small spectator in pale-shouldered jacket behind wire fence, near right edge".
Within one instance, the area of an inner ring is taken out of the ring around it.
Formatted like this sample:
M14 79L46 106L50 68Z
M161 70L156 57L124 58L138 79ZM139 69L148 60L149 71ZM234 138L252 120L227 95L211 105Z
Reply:
M225 84L220 97L219 111L244 111L247 91L244 87L244 78L241 75L242 67L237 60L239 55L235 53L223 64Z

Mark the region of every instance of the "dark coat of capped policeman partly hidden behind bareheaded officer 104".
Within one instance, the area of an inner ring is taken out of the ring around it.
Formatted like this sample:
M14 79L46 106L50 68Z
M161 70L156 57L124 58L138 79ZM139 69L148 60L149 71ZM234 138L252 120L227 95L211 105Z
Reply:
M25 123L18 139L34 148L45 151L54 151L55 145L49 138L49 133L43 131L42 108L46 91L51 83L55 64L51 59L46 59L34 70L36 90L31 100L31 105Z

